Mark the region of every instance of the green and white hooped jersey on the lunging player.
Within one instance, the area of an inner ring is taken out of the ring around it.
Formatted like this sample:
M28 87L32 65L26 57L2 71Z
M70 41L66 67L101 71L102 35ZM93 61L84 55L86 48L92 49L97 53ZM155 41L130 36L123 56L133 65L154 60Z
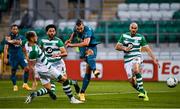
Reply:
M37 63L46 65L48 69L51 68L51 64L48 62L48 58L44 55L38 45L29 46L28 42L26 42L24 46L30 60L37 60Z

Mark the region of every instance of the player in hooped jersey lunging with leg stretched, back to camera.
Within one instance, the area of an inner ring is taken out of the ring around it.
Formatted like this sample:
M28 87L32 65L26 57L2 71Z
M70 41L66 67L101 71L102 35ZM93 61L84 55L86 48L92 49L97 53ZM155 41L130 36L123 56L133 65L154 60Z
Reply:
M57 82L62 83L64 87L64 91L66 95L70 99L70 103L82 103L81 101L74 98L72 94L71 87L69 85L69 81L66 76L64 76L64 73L61 71L58 71L48 60L48 58L45 56L44 52L40 49L40 47L36 44L37 42L37 35L34 31L27 32L26 38L28 40L26 46L26 50L28 52L29 57L29 69L35 69L39 76L41 83L43 84L46 93L50 95L52 99L56 99L56 95L51 90L51 79L57 80ZM41 96L41 91L36 91L31 93L25 103L30 103L32 99L36 96Z

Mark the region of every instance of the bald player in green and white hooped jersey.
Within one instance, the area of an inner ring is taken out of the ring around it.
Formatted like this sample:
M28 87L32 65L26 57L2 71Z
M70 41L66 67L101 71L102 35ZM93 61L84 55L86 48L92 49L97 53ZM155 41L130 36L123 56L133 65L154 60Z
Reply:
M143 62L140 51L141 47L148 53L155 64L158 64L158 61L153 55L152 50L148 46L144 36L137 33L137 23L131 23L129 29L130 32L121 35L115 49L118 51L124 51L124 67L128 80L139 92L139 98L143 98L144 101L149 101L147 91L145 91L143 87L141 75L141 64Z

